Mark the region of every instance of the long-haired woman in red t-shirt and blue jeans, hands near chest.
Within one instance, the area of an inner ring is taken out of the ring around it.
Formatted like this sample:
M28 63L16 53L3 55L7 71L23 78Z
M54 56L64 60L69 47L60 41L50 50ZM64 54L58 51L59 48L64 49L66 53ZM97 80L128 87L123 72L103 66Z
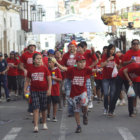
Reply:
M115 65L119 64L119 58L115 55L115 46L110 44L107 48L107 54L102 56L101 67L103 67L103 92L104 92L104 115L108 113L113 102L113 97L115 94L115 78L112 78L112 72ZM110 92L109 92L110 89ZM110 96L110 101L108 100ZM109 106L109 108L108 108ZM112 112L109 112L112 115Z

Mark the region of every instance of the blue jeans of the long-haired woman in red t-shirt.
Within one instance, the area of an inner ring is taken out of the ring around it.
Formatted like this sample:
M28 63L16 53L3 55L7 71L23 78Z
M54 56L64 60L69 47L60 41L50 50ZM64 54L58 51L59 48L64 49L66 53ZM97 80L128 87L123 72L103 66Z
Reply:
M104 92L104 108L108 110L108 107L112 104L116 86L115 78L103 79L102 80L103 92ZM108 96L110 97L110 102L108 101Z

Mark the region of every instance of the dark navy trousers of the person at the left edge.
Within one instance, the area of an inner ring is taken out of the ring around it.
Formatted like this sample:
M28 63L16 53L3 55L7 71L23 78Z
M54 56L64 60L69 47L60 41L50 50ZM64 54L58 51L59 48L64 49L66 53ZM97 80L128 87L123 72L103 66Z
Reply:
M7 87L7 75L0 75L0 98L1 98L1 85L3 85L6 98L9 98L9 90Z

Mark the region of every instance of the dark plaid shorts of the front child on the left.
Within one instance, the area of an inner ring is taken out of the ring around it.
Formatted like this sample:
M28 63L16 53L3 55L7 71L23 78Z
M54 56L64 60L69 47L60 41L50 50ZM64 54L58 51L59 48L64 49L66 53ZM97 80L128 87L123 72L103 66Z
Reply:
M47 109L47 91L31 91L33 110L40 109L45 111Z

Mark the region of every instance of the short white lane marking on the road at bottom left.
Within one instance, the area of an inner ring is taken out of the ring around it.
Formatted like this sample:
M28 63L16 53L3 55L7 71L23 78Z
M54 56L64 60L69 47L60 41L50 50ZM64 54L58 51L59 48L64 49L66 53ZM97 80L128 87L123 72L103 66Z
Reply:
M15 140L21 129L21 127L12 128L2 140Z

